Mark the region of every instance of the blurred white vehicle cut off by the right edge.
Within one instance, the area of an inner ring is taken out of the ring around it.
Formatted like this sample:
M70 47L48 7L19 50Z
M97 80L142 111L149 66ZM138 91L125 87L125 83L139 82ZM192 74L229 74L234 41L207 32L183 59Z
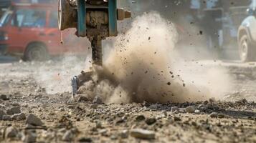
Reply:
M256 1L247 12L250 16L242 21L237 35L240 59L243 62L256 61Z

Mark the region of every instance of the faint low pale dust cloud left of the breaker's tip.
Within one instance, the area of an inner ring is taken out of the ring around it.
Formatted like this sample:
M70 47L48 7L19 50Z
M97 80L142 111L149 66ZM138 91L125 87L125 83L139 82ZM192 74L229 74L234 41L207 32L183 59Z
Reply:
M47 94L70 92L71 77L79 73L84 66L84 59L65 55L60 61L47 61L43 66L39 66L34 79Z

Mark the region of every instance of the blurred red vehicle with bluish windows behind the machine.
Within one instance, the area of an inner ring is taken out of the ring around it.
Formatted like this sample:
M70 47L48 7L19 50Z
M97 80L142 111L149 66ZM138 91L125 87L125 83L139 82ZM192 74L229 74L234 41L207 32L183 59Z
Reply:
M90 45L64 31L61 44L57 6L51 4L12 4L0 20L0 53L41 61L67 52L86 53Z

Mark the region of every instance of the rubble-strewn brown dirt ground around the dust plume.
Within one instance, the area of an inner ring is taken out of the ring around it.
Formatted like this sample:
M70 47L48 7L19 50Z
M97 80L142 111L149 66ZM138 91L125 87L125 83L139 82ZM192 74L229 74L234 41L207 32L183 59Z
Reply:
M202 64L229 68L235 90L224 100L103 104L78 96L74 102L60 79L65 74L69 83L79 66L0 64L0 142L256 142L255 64ZM52 82L42 82L51 79L38 78L43 73L55 75ZM65 90L49 94L55 80Z

